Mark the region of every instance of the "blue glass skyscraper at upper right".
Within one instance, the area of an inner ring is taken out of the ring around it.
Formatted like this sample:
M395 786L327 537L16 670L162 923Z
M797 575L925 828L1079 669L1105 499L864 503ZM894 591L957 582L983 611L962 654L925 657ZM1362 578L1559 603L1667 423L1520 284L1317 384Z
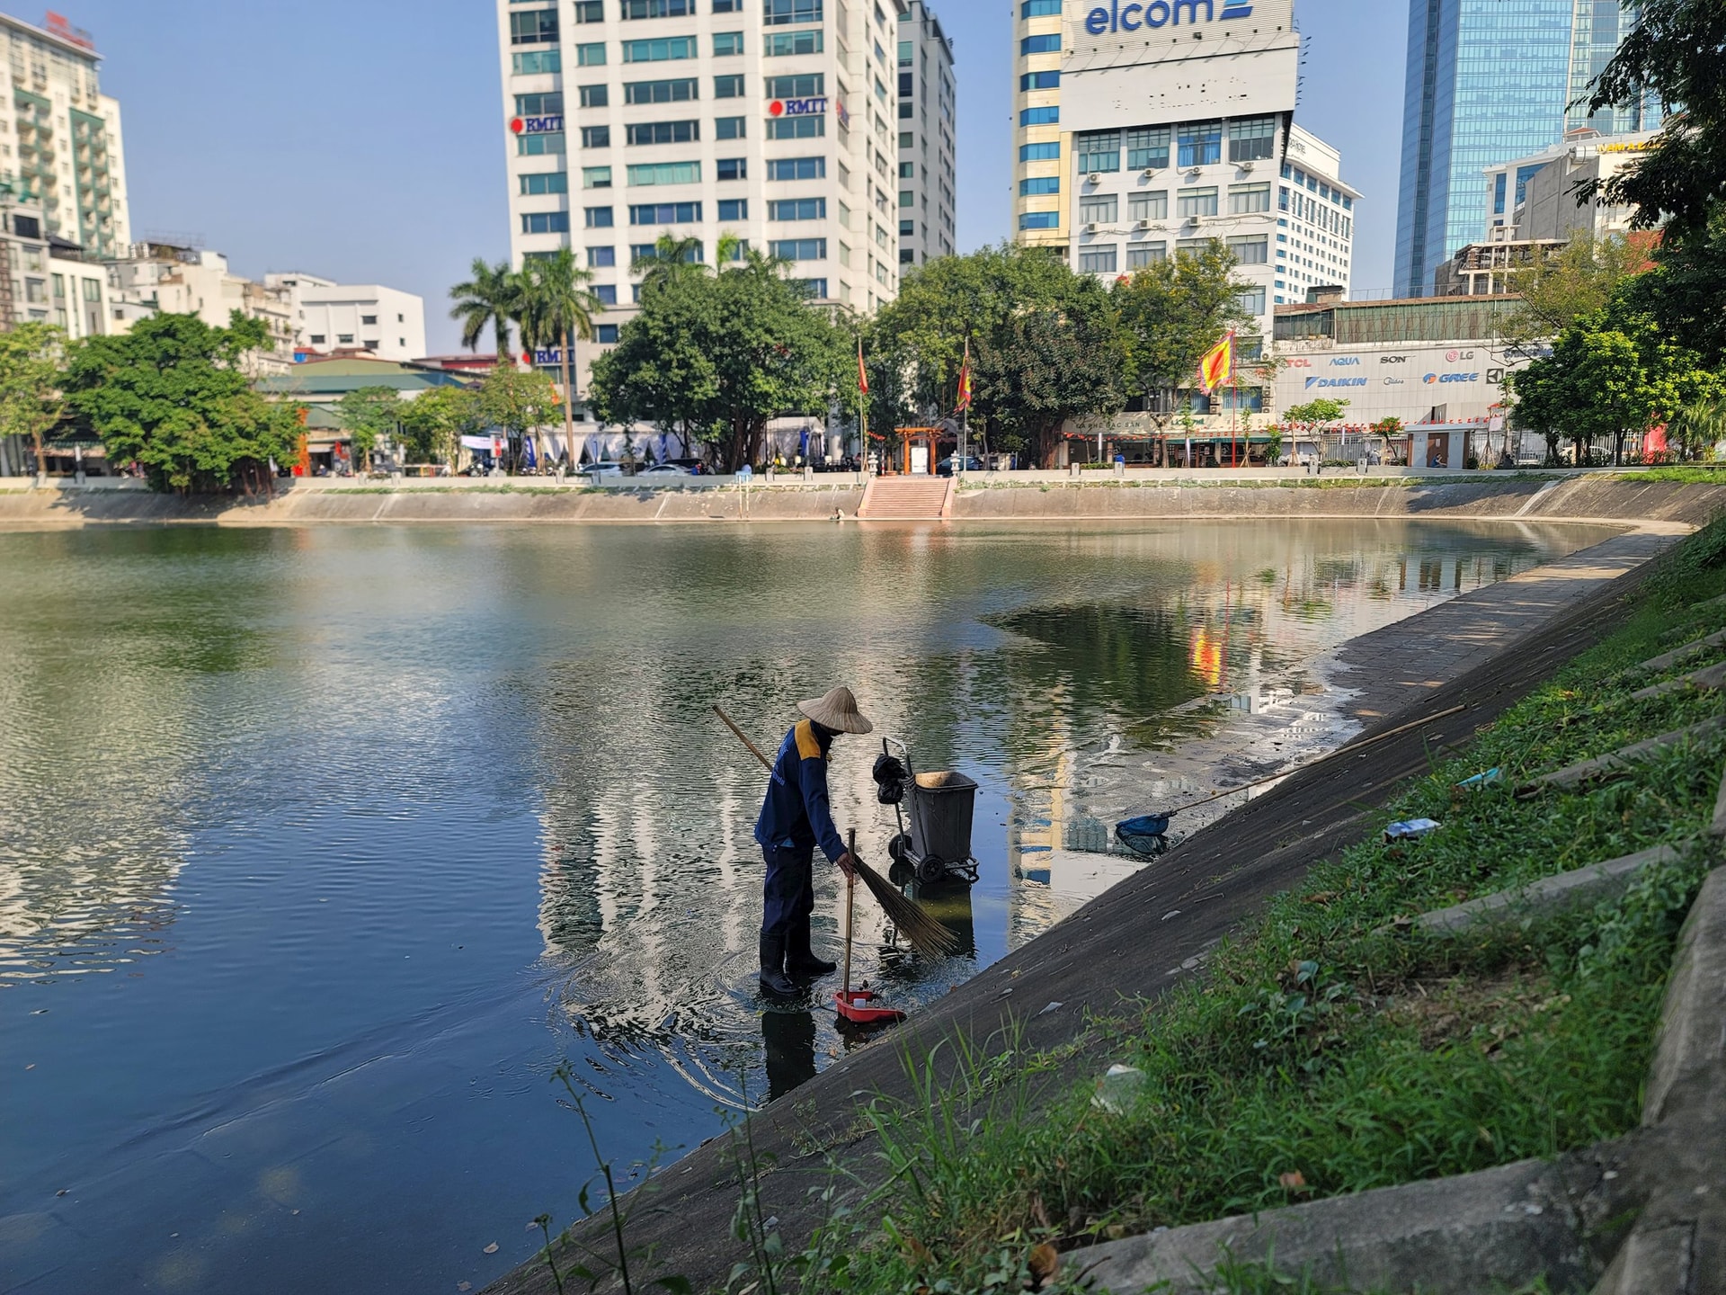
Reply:
M1652 105L1590 117L1576 104L1631 21L1624 0L1408 0L1398 297L1431 292L1438 266L1479 238L1486 167L1538 154L1569 131L1659 124ZM1528 174L1517 173L1517 188Z

